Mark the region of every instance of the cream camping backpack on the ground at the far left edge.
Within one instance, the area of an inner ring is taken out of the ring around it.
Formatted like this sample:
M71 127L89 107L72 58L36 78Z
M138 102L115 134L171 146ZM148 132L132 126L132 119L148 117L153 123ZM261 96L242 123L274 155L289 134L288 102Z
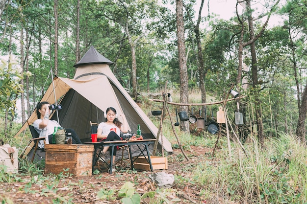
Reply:
M0 139L0 169L6 172L18 173L18 152L16 147L11 147L9 144L4 144Z

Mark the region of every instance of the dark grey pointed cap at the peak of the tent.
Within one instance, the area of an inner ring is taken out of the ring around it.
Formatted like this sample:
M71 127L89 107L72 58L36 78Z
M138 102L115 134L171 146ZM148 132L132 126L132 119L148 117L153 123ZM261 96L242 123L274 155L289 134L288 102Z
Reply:
M90 49L81 58L81 60L76 65L74 65L74 67L77 68L81 65L88 65L88 64L113 65L114 63L109 59L105 58L102 54L100 54L92 45Z

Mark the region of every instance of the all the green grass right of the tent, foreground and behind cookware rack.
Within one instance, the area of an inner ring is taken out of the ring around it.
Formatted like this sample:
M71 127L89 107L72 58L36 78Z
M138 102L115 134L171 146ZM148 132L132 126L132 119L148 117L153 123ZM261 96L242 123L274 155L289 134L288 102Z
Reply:
M193 99L193 102L199 101ZM175 122L175 109L169 108ZM159 127L160 117L149 116ZM206 132L194 136L180 132L179 127L175 130L185 150L190 145L213 148L217 139ZM169 115L163 122L162 132L173 148L177 148ZM175 175L178 185L193 183L208 203L307 204L307 149L293 136L270 137L262 148L257 138L252 138L252 142L244 144L247 155L238 144L231 143L232 158L225 137L220 138L218 145L215 157L200 160L190 178Z

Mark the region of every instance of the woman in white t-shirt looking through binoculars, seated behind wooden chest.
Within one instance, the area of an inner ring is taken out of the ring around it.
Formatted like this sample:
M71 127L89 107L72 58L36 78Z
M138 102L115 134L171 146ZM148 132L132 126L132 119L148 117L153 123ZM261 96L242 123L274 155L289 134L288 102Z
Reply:
M40 102L36 107L36 114L37 118L33 126L35 130L38 132L40 137L46 137L46 144L50 144L52 141L52 133L54 132L54 127L61 127L55 120L50 120L49 115L51 109L54 109L49 102L43 101ZM72 134L73 144L82 144L79 136L73 129L65 129L66 133ZM40 141L39 145L40 148L44 148L44 142Z

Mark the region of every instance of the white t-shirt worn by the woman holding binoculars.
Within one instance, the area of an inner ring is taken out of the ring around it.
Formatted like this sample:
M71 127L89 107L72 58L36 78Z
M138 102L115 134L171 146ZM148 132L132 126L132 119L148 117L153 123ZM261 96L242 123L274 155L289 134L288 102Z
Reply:
M40 137L46 137L46 144L49 144L49 135L51 135L54 132L54 127L61 127L56 120L49 120L48 125L40 129L39 124L42 122L42 119L37 119L33 122L33 126L36 129L36 131L39 133ZM40 148L44 148L44 142L41 140L38 145Z

